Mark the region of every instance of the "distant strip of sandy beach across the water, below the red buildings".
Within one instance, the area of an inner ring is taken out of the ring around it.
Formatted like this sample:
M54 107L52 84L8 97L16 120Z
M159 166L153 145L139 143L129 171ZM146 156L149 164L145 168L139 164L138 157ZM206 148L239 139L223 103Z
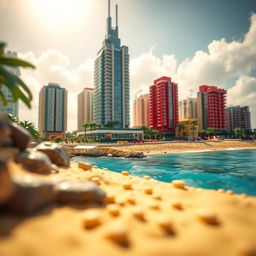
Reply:
M148 153L175 153L185 151L212 151L226 149L256 149L255 141L200 141L200 142L169 142L152 144L122 145L116 147L119 150Z

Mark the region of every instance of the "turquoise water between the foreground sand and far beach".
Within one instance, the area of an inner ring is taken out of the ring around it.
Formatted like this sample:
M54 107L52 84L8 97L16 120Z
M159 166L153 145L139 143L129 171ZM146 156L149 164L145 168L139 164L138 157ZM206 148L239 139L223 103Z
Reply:
M189 186L232 189L256 196L256 150L157 154L142 159L74 157L72 160L114 172L149 175L165 182L183 179Z

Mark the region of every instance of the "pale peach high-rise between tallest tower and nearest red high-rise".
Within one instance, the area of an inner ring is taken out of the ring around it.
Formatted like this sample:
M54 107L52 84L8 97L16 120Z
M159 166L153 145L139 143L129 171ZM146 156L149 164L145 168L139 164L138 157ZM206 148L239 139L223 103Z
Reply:
M149 127L149 94L141 95L133 102L133 127Z

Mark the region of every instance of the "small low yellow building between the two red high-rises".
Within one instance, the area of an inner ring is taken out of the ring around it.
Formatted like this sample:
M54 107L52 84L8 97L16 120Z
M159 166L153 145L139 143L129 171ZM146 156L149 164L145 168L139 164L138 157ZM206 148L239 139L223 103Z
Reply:
M193 140L193 138L195 139L198 138L198 124L192 124L191 121L197 121L197 119L179 120L179 124L175 129L175 136L177 138L182 138L187 140Z

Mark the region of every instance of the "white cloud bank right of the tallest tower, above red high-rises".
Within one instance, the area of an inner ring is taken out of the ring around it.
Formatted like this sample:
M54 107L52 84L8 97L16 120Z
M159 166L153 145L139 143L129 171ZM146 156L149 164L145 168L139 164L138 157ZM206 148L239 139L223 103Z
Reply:
M190 96L190 90L193 90L195 96L199 85L227 88L227 81L237 77L235 85L230 89L231 93L228 93L228 102L249 105L252 124L256 127L256 100L253 100L256 99L256 88L252 82L254 78L249 77L254 69L256 69L256 14L251 16L249 31L241 42L214 40L208 45L207 52L197 51L192 58L187 58L179 65L174 55L158 58L154 55L153 49L131 60L131 90L132 95L139 89L148 92L148 86L154 79L166 75L178 82L179 99L183 99ZM236 95L241 88L243 93Z

